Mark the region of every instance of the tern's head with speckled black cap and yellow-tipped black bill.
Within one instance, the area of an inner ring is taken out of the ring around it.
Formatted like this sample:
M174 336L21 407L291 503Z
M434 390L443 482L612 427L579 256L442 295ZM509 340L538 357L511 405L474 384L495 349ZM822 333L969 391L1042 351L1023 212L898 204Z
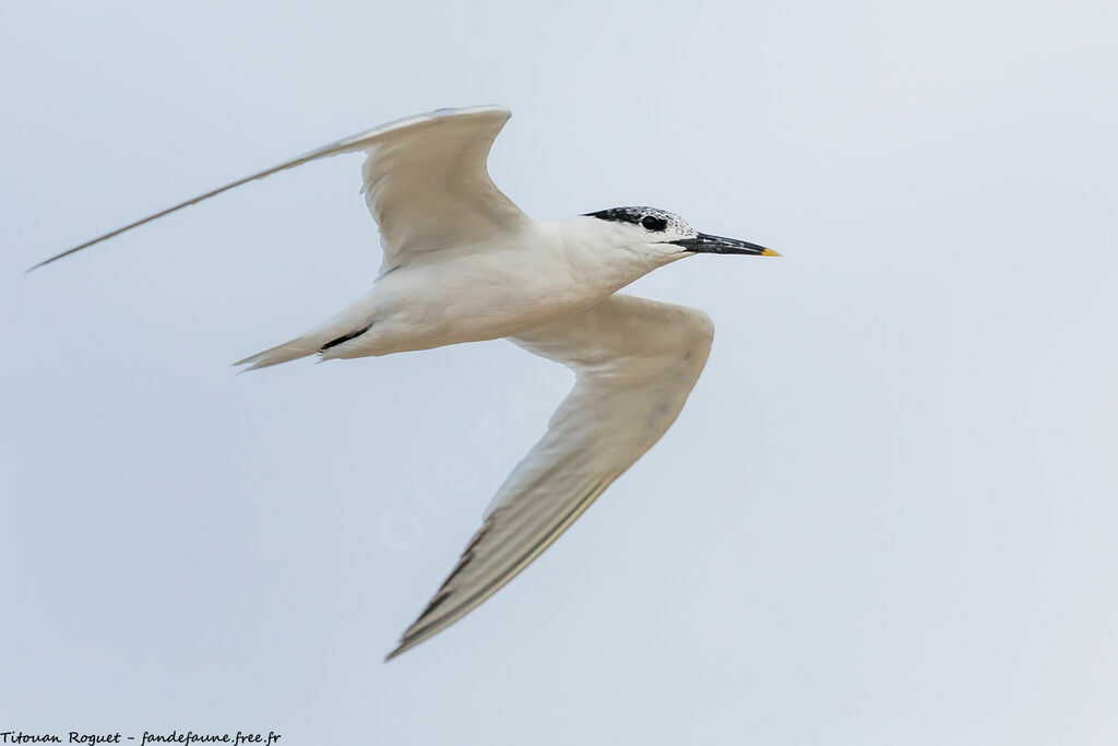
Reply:
M665 262L692 254L780 256L748 240L699 233L679 215L655 207L614 207L587 213L586 217L608 221L626 245L661 256Z

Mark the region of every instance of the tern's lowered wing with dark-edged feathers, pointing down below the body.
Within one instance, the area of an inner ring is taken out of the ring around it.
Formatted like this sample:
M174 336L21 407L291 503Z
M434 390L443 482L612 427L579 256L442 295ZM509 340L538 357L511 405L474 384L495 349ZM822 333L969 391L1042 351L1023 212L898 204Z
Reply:
M628 295L512 339L574 369L575 388L388 658L496 593L652 447L683 408L712 339L703 312Z

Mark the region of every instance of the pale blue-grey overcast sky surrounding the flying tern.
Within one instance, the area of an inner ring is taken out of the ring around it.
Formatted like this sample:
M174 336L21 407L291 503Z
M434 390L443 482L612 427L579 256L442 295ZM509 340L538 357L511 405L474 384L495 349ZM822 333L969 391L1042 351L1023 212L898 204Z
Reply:
M0 3L0 730L318 744L1118 740L1111 2ZM528 214L780 259L510 586L385 665L570 376L503 341L236 376L380 255L341 135L503 103Z

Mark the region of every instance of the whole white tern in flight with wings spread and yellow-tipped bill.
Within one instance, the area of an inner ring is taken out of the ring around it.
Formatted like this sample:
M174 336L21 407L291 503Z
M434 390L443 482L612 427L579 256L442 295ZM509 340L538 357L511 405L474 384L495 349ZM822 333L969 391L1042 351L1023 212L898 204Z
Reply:
M368 292L295 339L235 365L360 358L508 338L576 376L547 433L498 491L481 529L386 660L462 618L547 549L660 440L713 339L702 311L618 294L700 253L778 256L620 207L532 220L490 180L503 106L444 108L345 138L53 256L32 270L254 179L364 152L366 201L383 262Z

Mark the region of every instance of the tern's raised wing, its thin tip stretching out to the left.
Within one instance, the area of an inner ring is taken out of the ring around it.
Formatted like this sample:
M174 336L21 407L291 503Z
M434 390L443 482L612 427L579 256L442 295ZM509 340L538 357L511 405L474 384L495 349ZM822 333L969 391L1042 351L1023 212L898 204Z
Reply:
M366 200L380 225L382 268L398 266L411 252L465 247L528 223L489 178L485 161L501 128L512 116L503 106L440 108L385 124L212 189L130 223L36 264L50 264L125 230L196 205L243 183L309 161L364 151Z

